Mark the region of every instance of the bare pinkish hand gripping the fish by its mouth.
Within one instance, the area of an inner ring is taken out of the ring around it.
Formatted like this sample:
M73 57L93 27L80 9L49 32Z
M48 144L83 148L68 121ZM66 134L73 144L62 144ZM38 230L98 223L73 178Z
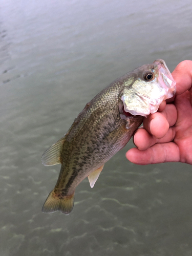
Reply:
M162 102L159 112L144 118L136 131L136 148L126 158L136 164L183 162L192 164L192 61L179 63L172 73L176 95Z

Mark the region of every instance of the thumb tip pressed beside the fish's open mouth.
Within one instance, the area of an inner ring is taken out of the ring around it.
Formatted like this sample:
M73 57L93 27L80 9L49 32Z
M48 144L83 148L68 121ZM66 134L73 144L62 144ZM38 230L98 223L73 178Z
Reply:
M180 62L172 72L173 78L176 81L176 95L180 95L187 90L191 90L192 86L192 61L184 60Z

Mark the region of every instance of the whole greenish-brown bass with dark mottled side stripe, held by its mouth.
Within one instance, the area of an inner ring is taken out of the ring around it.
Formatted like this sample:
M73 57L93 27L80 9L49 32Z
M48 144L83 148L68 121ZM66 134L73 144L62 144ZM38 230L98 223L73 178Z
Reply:
M42 155L45 166L61 164L42 212L69 215L78 184L88 177L93 188L105 162L127 144L144 117L174 96L175 84L164 60L157 59L117 78L88 102L65 136Z

